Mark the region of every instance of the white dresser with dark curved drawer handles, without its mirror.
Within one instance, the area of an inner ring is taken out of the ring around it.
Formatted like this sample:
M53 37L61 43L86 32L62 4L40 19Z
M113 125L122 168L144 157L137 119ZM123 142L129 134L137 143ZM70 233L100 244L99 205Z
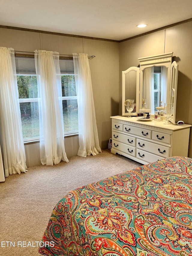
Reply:
M191 125L165 125L165 121L141 121L137 117L111 116L113 154L142 164L188 154Z

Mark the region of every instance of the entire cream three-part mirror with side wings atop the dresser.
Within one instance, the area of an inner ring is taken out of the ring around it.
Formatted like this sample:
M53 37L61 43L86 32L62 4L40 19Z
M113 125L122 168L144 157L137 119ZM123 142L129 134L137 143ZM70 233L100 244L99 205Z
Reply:
M122 71L123 116L128 116L125 101L134 97L136 107L132 116L142 109L143 99L146 99L151 114L155 114L156 107L161 107L161 104L164 107L164 103L173 103L173 115L169 120L175 124L178 65L175 61L172 63L172 55L173 52L139 58L140 68Z

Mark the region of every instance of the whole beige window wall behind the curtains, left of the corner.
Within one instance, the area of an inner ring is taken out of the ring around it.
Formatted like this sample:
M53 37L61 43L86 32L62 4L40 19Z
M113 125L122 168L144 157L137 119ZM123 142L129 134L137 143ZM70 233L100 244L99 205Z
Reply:
M119 114L119 43L0 28L0 46L15 51L57 51L61 55L88 53L99 143L107 148L111 137L110 116ZM40 164L39 143L25 145L27 166ZM65 137L67 157L77 154L78 136Z

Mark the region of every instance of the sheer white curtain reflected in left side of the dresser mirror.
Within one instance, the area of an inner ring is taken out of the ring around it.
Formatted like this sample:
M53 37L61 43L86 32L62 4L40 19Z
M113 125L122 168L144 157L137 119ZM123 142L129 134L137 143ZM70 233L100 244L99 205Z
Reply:
M143 98L147 101L147 108L154 113L154 67L143 70Z

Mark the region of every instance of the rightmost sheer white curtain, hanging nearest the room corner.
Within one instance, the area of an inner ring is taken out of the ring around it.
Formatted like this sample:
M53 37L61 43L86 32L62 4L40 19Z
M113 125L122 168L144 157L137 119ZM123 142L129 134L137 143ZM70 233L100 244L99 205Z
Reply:
M101 152L95 118L88 55L73 53L79 120L79 156Z

